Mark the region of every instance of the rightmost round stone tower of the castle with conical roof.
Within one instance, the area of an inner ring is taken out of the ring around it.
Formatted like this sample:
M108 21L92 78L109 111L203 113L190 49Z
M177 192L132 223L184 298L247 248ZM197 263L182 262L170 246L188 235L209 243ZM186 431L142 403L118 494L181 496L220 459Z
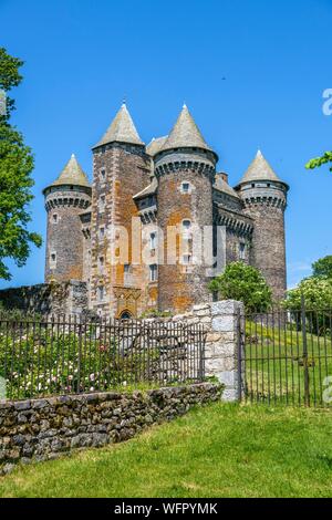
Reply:
M259 150L236 189L245 212L253 219L250 263L261 271L279 302L287 289L284 210L289 186Z

